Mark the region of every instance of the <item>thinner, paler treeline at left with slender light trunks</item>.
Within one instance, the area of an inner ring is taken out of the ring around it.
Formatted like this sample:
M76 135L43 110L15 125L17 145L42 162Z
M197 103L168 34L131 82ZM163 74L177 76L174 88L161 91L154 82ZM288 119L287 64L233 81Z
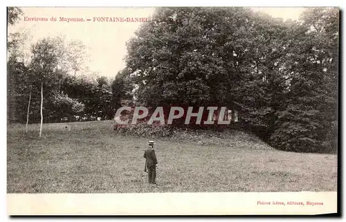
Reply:
M8 26L21 18L8 8ZM85 46L66 37L46 37L28 46L30 33L8 35L8 122L113 119L113 80L85 65ZM41 92L42 91L42 92Z

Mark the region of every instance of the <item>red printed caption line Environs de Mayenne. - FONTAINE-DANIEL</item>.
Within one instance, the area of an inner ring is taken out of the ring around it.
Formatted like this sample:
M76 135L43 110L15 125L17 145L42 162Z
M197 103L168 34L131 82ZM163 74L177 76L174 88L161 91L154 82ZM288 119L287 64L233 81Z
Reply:
M84 18L69 18L69 17L24 17L24 21L64 21L64 22L78 22L78 21L98 21L98 22L149 22L147 17L92 17L92 19Z

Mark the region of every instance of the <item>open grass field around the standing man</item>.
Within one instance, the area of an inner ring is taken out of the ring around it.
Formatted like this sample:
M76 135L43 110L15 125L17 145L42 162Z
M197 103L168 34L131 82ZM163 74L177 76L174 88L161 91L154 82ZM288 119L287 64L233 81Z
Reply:
M120 136L112 121L8 125L8 193L336 191L337 156L277 151L235 131L224 144ZM68 128L65 128L65 126ZM143 151L154 139L158 187ZM144 176L144 178L142 178Z

